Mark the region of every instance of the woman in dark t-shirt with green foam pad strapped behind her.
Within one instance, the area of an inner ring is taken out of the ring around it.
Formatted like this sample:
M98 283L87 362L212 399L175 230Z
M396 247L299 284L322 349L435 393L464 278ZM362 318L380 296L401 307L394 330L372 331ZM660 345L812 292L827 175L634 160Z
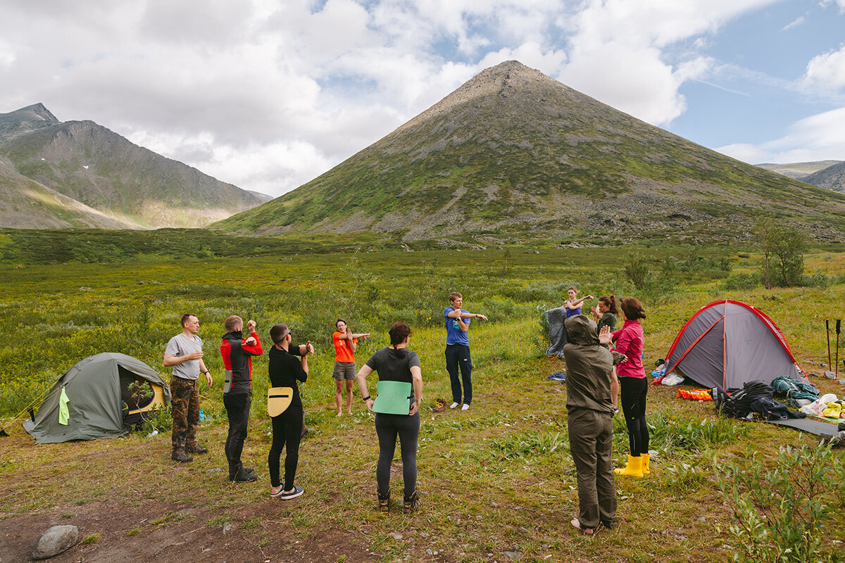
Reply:
M367 376L379 373L380 382L406 382L412 387L407 414L375 414L375 432L379 436L379 464L375 470L379 488L379 510L390 510L390 464L396 449L396 436L402 455L402 478L405 481L405 498L402 512L417 508L417 438L420 431L420 402L423 400L423 371L416 352L408 348L411 328L404 322L394 322L390 327L390 348L373 354L357 374L358 389L367 409L373 410L373 399L367 388ZM402 407L404 409L404 407Z

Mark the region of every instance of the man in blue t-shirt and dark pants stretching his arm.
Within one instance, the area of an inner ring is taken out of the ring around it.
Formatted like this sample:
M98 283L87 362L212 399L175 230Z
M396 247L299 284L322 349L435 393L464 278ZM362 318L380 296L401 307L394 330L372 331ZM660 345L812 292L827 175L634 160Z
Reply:
M449 295L449 303L450 306L443 310L446 323L446 371L449 371L452 384L452 404L449 408L455 409L463 403L461 410L466 410L472 403L472 358L470 358L470 339L466 331L470 329L470 319L480 318L486 321L487 317L461 309L464 297L457 291ZM459 365L461 366L460 379L458 378ZM462 397L461 381L464 386Z

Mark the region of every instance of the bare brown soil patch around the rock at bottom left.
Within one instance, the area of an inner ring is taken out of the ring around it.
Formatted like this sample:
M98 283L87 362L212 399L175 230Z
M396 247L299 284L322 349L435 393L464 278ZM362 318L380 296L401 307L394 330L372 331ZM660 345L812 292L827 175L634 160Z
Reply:
M219 512L178 501L144 501L131 508L116 502L55 507L0 520L0 561L30 561L41 534L63 524L77 526L80 540L95 534L99 539L86 545L80 541L49 559L51 563L334 563L377 559L356 533L324 529L300 536L290 523L280 522L276 512L271 502L244 506L216 520ZM224 519L228 521L222 522Z

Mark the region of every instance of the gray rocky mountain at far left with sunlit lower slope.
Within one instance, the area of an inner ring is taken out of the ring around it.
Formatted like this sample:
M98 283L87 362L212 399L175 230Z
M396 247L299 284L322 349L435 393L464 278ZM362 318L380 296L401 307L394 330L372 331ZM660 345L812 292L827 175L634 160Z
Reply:
M0 114L0 162L123 228L204 226L267 199L139 147L95 122L59 122L41 104ZM10 180L0 186L7 192L22 189ZM0 225L38 228L49 209L33 212L30 223L18 216Z

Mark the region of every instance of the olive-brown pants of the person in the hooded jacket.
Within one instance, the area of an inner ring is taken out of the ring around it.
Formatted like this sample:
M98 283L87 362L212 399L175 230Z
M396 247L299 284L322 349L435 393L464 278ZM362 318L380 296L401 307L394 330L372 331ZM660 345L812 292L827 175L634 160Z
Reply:
M570 453L578 481L578 521L582 528L616 521L613 482L613 415L590 409L571 409L566 419Z

